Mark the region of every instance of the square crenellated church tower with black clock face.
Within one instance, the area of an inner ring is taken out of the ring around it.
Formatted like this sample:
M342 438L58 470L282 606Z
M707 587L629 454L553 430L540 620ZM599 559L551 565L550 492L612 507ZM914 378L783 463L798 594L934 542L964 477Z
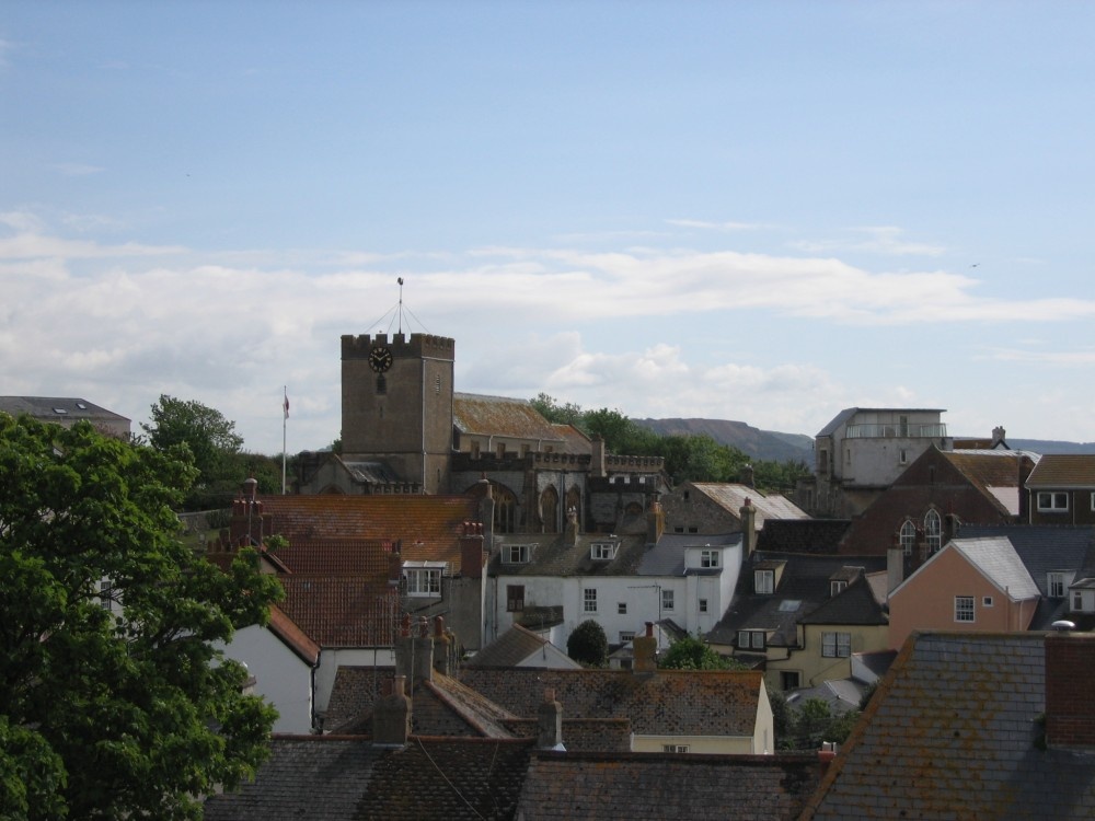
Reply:
M384 461L404 482L447 493L454 357L443 336L343 336L343 459Z

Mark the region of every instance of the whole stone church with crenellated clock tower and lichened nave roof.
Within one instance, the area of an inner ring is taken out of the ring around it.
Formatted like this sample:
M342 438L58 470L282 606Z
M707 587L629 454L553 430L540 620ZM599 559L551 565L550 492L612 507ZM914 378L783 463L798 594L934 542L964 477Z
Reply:
M526 400L458 393L456 342L343 336L343 452L303 453L302 494L465 494L484 479L495 533L643 532L660 458L608 453Z

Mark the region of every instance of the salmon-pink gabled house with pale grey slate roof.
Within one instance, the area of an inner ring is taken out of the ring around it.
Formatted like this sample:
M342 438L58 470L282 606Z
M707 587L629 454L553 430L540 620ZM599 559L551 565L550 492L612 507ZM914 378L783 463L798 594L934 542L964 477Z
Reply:
M1006 536L955 539L889 594L889 645L913 631L1025 631L1040 593Z

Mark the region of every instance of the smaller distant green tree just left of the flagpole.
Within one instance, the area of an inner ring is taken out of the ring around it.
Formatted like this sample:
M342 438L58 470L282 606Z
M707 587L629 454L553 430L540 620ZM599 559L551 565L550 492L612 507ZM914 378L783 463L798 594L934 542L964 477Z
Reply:
M234 460L243 447L235 423L200 402L166 394L152 405L150 416L151 424L141 423L149 444L163 452L185 446L194 459L198 474L183 499L184 509L227 507L246 478L238 475Z

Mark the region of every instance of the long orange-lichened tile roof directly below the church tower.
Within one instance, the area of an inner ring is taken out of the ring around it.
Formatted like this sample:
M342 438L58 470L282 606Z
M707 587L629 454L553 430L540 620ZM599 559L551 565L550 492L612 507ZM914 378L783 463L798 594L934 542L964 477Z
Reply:
M404 559L460 566L463 523L479 517L469 496L262 496L267 532L289 544L316 540L399 541ZM296 551L297 548L290 548Z

